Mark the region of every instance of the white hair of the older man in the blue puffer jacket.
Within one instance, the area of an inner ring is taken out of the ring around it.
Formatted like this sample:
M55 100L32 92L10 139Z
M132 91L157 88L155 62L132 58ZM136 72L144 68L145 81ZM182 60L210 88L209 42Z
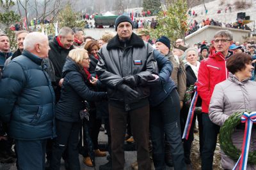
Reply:
M47 36L42 32L30 32L24 39L24 50L34 50L35 45L42 43L45 39L48 40Z

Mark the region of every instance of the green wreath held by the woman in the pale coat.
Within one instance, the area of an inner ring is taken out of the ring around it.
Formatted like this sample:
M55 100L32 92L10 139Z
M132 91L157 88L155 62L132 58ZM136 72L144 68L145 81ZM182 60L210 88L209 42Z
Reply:
M232 134L236 126L241 124L243 112L235 112L231 115L220 128L220 147L223 152L235 162L241 155L241 150L237 149L232 143ZM248 164L256 164L256 151L248 153Z

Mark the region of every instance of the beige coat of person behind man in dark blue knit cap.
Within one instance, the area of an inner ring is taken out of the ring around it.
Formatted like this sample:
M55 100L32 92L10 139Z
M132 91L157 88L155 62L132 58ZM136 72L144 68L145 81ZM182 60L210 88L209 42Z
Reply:
M172 52L168 53L166 57L168 57L168 59L173 64L171 78L175 82L175 85L177 85L177 91L180 96L180 101L184 101L184 96L186 92L186 69L184 66L184 62L179 57L179 63L178 63L175 60L175 57L173 56Z

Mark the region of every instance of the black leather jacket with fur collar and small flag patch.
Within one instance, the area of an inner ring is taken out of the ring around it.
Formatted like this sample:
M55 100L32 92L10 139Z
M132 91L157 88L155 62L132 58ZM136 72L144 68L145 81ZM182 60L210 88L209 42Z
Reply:
M150 92L148 86L134 87L138 92L138 100L130 103L125 103L127 100L124 92L117 88L123 83L125 76L136 74L139 79L147 80L149 74L158 73L152 46L134 33L126 42L121 42L116 34L99 50L99 57L96 72L99 80L108 88L110 102L120 108L135 109L145 106Z

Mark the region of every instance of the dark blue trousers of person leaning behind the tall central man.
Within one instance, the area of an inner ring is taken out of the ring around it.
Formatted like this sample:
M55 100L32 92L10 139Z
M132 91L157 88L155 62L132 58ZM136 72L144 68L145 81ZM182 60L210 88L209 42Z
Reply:
M159 105L150 108L150 135L153 161L156 169L165 169L164 135L171 148L174 169L186 169L184 150L180 138L180 100L177 90Z

